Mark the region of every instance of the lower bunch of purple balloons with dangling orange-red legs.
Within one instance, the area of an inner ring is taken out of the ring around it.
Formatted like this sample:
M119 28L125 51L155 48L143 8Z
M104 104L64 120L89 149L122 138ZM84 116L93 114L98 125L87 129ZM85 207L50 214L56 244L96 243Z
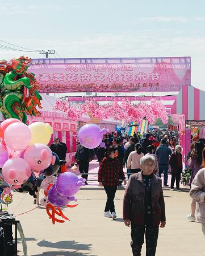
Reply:
M70 172L61 173L57 178L55 176L46 177L41 183L41 189L44 189L45 197L41 199L40 204L46 206L47 214L52 223L64 223L64 220L70 221L61 210L61 207L76 207L76 205L69 205L70 201L77 201L74 196L81 186L85 185L84 178L78 178L75 174ZM64 220L59 220L61 217Z

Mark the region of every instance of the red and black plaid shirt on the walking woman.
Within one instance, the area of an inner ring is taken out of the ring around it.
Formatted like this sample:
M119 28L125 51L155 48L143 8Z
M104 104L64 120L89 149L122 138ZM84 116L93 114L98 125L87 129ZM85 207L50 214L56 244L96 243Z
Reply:
M123 166L118 159L104 157L98 170L98 182L102 182L103 186L117 186L119 179L124 180Z

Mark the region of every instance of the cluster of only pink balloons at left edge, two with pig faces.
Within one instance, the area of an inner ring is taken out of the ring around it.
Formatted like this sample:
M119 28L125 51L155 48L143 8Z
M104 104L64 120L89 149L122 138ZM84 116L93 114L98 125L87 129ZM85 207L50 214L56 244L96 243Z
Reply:
M0 130L0 168L5 181L14 188L20 188L32 172L39 175L41 170L55 163L55 156L47 145L30 145L32 132L20 120L7 119Z

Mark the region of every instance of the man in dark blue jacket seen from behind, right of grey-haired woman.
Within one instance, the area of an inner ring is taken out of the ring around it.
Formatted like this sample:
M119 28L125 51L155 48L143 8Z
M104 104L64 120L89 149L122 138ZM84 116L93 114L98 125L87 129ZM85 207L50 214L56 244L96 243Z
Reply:
M169 169L169 156L172 154L170 148L166 146L166 140L161 140L161 146L157 148L156 155L158 159L159 173L158 176L161 178L161 174L164 172L164 186L168 185L168 169Z

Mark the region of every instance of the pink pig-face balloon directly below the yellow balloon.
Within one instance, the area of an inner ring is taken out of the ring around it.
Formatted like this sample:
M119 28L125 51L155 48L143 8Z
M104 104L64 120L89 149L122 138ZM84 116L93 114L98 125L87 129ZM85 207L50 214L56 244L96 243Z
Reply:
M33 172L40 172L54 165L56 157L52 155L51 149L47 145L35 143L24 152L24 160L31 166Z

